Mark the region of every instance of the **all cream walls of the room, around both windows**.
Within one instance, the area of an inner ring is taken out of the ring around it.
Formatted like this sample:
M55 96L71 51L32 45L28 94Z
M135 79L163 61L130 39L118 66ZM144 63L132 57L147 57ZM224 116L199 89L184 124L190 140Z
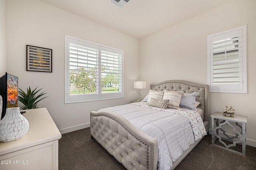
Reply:
M139 77L147 82L144 96L149 84L163 80L207 84L207 35L247 24L248 94L210 93L210 113L232 105L237 114L248 116L247 144L256 147L255 9L255 0L234 0L138 42L38 0L0 0L0 74L7 70L18 76L19 88L24 90L28 86L44 87L50 97L43 100L40 107L47 107L57 127L66 133L88 127L90 110L135 100L137 91L133 81ZM125 98L64 104L64 35L124 49ZM52 73L26 71L26 45L52 49Z

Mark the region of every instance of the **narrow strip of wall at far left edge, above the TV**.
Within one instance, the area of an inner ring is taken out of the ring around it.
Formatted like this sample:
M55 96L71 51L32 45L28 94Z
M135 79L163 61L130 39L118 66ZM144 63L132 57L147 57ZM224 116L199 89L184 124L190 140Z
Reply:
M7 71L6 0L0 0L0 77Z

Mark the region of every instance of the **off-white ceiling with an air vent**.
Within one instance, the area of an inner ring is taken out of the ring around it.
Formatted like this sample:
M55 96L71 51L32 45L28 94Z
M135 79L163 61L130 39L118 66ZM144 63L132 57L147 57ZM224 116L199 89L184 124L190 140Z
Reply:
M232 0L40 0L135 38L142 38Z

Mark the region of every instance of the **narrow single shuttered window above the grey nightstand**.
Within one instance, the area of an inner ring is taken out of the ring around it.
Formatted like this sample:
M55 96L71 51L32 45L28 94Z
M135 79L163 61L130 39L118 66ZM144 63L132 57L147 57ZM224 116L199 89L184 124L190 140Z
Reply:
M247 93L246 25L208 35L210 92Z

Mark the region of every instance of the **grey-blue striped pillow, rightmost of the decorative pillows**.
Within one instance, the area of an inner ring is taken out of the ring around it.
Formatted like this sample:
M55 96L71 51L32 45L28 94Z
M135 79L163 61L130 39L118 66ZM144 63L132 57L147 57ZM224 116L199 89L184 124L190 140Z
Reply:
M188 109L196 110L196 96L198 96L198 92L193 93L185 93L185 96L181 97L180 100L180 107L186 107Z

